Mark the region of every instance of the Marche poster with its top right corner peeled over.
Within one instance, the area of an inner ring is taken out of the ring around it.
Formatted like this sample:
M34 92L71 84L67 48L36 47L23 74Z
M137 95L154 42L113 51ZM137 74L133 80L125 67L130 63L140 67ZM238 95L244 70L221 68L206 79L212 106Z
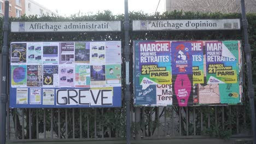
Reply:
M206 45L207 83L236 83L238 61L222 41Z

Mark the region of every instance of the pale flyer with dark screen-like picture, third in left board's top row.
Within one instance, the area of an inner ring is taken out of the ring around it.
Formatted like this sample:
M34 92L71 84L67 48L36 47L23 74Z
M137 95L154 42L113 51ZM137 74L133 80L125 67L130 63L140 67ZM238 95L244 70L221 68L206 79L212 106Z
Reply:
M59 64L59 43L43 43L43 64Z

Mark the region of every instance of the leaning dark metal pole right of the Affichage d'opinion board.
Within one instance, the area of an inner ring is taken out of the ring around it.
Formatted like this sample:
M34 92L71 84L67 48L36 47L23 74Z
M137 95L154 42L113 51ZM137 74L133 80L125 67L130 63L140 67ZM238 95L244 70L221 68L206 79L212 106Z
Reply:
M242 12L242 27L243 27L243 39L245 41L245 57L247 66L247 84L248 84L248 96L249 105L251 110L251 123L252 123L252 134L253 144L256 144L256 127L255 127L255 108L254 108L254 88L252 82L252 56L251 47L248 42L248 22L246 19L245 0L241 0L241 12Z

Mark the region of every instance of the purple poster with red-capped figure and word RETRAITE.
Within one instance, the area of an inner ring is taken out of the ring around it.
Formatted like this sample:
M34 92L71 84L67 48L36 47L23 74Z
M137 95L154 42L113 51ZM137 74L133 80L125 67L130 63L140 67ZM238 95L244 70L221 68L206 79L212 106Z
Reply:
M173 41L172 74L192 74L193 57L191 56L192 44L187 41Z

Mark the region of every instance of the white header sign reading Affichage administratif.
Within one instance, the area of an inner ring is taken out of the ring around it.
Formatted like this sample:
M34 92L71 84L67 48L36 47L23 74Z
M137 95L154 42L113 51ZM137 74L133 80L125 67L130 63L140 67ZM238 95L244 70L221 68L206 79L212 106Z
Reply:
M121 31L121 21L11 22L11 32Z

